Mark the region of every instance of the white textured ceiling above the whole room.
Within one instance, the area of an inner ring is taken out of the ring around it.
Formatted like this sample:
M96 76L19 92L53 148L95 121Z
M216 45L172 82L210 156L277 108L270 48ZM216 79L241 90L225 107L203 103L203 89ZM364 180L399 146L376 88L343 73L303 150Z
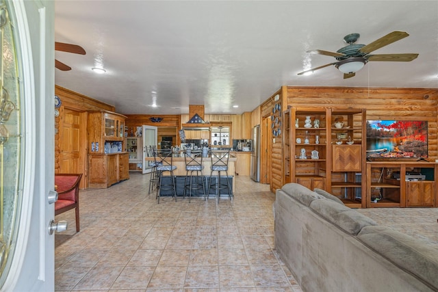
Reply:
M309 49L337 51L351 33L369 44L395 30L410 36L374 53L417 59L369 62L350 79L334 66L297 75L336 61ZM87 52L55 52L73 68L55 69L55 84L122 114L187 114L188 105L240 114L281 85L438 88L438 1L57 0L55 40Z

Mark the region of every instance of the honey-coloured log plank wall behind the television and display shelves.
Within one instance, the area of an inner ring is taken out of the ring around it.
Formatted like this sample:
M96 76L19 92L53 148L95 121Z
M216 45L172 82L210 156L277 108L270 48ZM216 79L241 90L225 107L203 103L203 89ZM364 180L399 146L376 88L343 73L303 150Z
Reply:
M428 156L438 159L437 101L436 88L331 88L283 86L279 92L286 92L282 110L286 106L327 107L332 109L366 109L368 120L427 120ZM272 96L275 96L273 94ZM270 114L272 96L263 103L262 116ZM278 159L281 140L272 146L271 190L281 187L283 182L278 171L283 159ZM278 144L278 145L277 145ZM279 175L279 178L274 176Z

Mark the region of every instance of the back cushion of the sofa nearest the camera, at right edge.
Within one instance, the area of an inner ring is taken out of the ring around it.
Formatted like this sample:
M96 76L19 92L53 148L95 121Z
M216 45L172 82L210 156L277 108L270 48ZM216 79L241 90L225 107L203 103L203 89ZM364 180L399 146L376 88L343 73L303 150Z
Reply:
M387 260L437 289L437 248L387 226L366 226L357 238Z

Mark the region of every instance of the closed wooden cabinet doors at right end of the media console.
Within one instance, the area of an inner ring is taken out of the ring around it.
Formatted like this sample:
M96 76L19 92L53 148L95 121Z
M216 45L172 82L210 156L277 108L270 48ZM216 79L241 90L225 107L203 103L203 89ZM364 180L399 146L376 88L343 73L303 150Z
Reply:
M435 181L407 181L407 207L433 207Z

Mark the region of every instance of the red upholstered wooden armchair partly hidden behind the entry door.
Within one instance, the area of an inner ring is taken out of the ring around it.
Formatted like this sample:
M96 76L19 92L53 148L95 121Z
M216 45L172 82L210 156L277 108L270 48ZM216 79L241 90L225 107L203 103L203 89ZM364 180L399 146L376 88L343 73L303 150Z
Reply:
M75 209L76 232L79 232L79 183L82 174L55 174L57 201L55 215Z

